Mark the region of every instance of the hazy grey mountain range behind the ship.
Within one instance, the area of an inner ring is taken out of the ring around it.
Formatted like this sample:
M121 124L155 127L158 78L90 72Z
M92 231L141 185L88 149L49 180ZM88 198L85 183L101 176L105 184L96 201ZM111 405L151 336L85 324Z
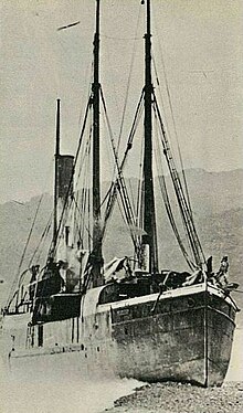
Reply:
M216 271L221 257L228 255L230 260L229 279L239 283L239 289L243 289L241 287L243 263L243 170L207 172L201 169L190 169L187 170L187 180L196 225L205 256L213 256L214 271ZM136 179L130 179L130 182L131 187L136 187ZM171 193L170 184L168 184L168 191ZM167 220L157 186L156 198L158 201L157 221L160 265L163 268L187 269ZM179 213L177 202L172 202L172 208L177 215ZM41 198L32 198L24 204L11 201L0 205L0 279L4 280L3 284L0 284L0 303L6 300L14 275L18 272L36 209L39 209L39 214L32 229L32 236L27 248L28 253L22 264L23 269L30 265L30 260L36 245L45 239L44 227L52 213L52 197L43 194ZM109 231L110 229L112 231ZM47 235L47 243L42 247L43 264L50 241L51 231ZM109 260L114 255L129 255L131 254L130 247L128 230L123 223L118 208L115 208L105 240L105 256ZM239 306L243 307L243 294L234 293L233 296L237 300ZM239 321L243 324L241 314Z

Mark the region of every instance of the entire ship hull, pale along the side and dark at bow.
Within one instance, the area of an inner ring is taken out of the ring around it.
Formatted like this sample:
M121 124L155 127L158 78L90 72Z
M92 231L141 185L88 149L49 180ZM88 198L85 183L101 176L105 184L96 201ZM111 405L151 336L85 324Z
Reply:
M32 330L36 339L29 348L14 340L12 367L31 358L34 369L39 366L45 373L47 366L56 364L85 377L222 384L235 327L229 298L204 285L167 292L159 300L152 294L99 304L98 288L92 294L82 303L80 317L42 325L41 346L40 326ZM6 332L20 338L21 329ZM27 343L27 330L24 337ZM51 361L45 366L44 360Z

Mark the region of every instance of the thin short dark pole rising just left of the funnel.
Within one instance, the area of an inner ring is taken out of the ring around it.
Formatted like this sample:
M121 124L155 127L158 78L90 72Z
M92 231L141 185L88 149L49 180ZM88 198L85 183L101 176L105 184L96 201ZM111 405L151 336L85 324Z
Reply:
M56 100L56 134L55 134L55 178L54 178L54 222L53 248L57 237L57 201L59 201L59 158L60 158L60 99Z

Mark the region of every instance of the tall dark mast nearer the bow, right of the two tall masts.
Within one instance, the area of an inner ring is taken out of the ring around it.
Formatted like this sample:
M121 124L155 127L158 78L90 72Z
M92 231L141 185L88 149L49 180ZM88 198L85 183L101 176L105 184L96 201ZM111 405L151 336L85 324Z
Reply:
M149 245L149 272L158 271L158 247L156 234L156 211L152 178L152 120L151 104L151 24L150 24L150 0L147 7L147 32L145 34L145 155L144 155L144 230L142 245Z

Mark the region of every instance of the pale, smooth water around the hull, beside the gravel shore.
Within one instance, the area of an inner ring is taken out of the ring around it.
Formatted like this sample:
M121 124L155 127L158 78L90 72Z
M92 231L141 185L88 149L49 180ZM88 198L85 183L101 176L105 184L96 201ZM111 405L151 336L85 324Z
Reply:
M241 343L243 330L236 329L226 381L243 381L243 356ZM0 366L1 413L99 413L113 406L122 395L129 394L144 383L128 379L103 379L78 377L68 369L60 370L53 364L52 374L24 369L12 371Z

